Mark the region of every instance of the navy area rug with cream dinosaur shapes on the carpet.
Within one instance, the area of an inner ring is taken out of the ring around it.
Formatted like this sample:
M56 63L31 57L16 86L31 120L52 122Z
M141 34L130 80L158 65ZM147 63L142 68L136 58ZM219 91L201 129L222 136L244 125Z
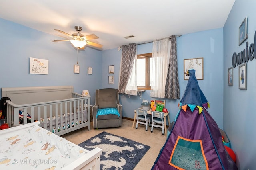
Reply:
M101 170L133 170L150 146L102 132L79 144L87 150L102 149Z

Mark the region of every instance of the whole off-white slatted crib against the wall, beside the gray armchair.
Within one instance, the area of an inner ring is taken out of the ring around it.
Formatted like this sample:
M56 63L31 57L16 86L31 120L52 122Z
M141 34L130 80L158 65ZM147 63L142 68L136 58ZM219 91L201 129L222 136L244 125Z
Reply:
M39 121L40 127L64 135L88 127L90 96L73 92L73 86L2 88L7 100L6 123L15 127Z

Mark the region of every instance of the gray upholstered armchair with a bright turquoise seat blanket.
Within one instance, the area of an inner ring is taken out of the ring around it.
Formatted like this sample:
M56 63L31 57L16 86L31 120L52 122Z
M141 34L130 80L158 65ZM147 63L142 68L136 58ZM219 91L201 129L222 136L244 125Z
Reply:
M122 105L117 89L97 89L95 105L92 107L93 128L122 126Z

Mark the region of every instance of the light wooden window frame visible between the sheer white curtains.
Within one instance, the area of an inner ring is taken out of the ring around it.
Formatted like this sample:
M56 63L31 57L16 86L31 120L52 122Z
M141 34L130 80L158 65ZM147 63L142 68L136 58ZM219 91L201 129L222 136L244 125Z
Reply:
M150 58L152 58L152 53L145 53L137 55L138 59L146 59L145 60L145 86L137 86L138 90L151 90L150 86Z

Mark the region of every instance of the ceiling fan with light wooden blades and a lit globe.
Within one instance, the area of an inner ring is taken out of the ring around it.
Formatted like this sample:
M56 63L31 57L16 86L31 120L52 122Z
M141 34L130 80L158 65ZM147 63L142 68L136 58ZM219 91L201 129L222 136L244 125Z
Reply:
M97 37L95 34L90 34L90 35L82 35L80 33L80 31L82 31L82 27L80 26L75 26L75 29L77 31L77 33L73 33L72 35L65 33L59 29L54 29L60 33L63 33L65 35L67 35L68 37L71 37L72 39L63 39L63 40L51 40L52 42L59 42L59 41L70 41L72 43L72 45L74 45L74 47L78 48L78 49L83 49L85 45L90 45L92 47L96 47L96 48L102 48L103 45L98 44L98 43L94 43L91 41L88 41L90 39L97 39L99 37Z

